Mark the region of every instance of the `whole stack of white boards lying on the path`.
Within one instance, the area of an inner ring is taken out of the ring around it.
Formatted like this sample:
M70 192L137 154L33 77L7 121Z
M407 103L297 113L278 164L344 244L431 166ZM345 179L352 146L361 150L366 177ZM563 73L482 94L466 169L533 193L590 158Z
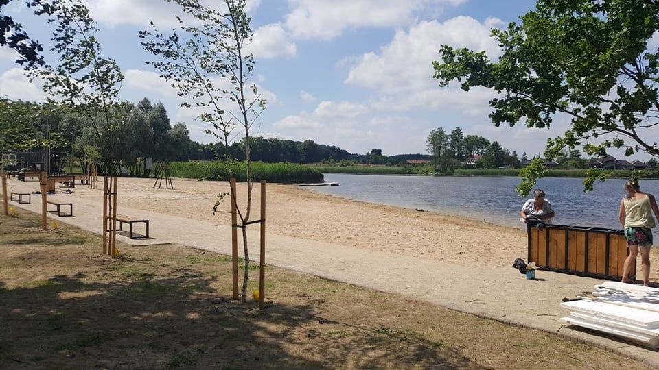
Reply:
M659 289L622 282L594 286L592 299L561 304L571 312L561 321L659 348Z

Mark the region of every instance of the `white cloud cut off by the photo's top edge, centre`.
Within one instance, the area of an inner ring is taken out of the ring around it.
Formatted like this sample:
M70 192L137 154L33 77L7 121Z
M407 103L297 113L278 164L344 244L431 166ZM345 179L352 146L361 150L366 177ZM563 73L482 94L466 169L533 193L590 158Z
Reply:
M444 5L466 0L289 0L286 26L295 38L329 40L345 29L408 25L415 12L437 14Z

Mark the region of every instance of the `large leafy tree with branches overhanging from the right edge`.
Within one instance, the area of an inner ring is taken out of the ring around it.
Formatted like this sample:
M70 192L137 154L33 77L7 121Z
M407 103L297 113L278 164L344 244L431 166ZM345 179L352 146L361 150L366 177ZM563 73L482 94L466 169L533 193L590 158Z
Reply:
M659 50L647 47L658 31L659 0L539 0L520 23L492 30L498 60L443 45L435 78L441 86L457 80L463 90L496 90L489 116L497 126L549 128L557 114L570 117L571 127L548 140L547 159L575 147L659 157ZM521 194L545 173L540 161L534 165L522 171ZM586 190L600 175L590 173Z

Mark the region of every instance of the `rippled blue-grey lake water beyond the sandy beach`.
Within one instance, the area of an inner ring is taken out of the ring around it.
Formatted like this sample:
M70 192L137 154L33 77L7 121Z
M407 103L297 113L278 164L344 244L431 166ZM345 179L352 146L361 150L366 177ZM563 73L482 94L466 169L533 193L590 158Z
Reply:
M326 173L325 181L339 182L340 186L316 186L313 189L348 199L421 208L498 225L520 228L523 225L519 221L519 212L525 199L515 193L520 183L518 177ZM537 182L536 187L545 191L546 199L551 201L556 211L554 223L621 228L618 223L618 206L625 195L623 185L626 180L607 180L596 184L590 193L583 193L582 181L578 178L544 178ZM640 180L640 188L659 197L659 180Z

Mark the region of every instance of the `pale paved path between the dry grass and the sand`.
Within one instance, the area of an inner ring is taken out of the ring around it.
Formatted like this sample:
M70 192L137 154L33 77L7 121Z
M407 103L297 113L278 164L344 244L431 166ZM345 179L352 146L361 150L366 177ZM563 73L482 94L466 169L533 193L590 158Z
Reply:
M30 191L34 182L10 180L12 190ZM48 216L100 234L102 230L102 192L98 201L78 199L76 193L62 194L58 200L73 201L73 217ZM75 191L75 189L74 189ZM33 195L32 204L10 202L33 212L41 212L41 196ZM180 243L220 254L231 254L231 227L174 217L132 208L119 208L118 213L150 220L149 240L131 240L117 234L117 240L130 245ZM140 232L141 225L136 224ZM248 230L251 259L258 259L258 226ZM267 231L267 230L266 230ZM240 238L239 234L239 240ZM242 245L242 244L241 244ZM643 361L659 368L659 352L637 347L595 332L573 330L559 321L568 310L560 308L563 297L592 291L602 280L577 277L549 271L537 271L536 280L526 280L512 267L474 268L447 262L367 251L333 243L290 238L266 233L268 264L327 277L340 282L365 286L378 291L406 295L447 308L496 319L525 328L557 334L579 343L588 343ZM242 253L242 247L239 247ZM511 261L512 263L512 261Z

